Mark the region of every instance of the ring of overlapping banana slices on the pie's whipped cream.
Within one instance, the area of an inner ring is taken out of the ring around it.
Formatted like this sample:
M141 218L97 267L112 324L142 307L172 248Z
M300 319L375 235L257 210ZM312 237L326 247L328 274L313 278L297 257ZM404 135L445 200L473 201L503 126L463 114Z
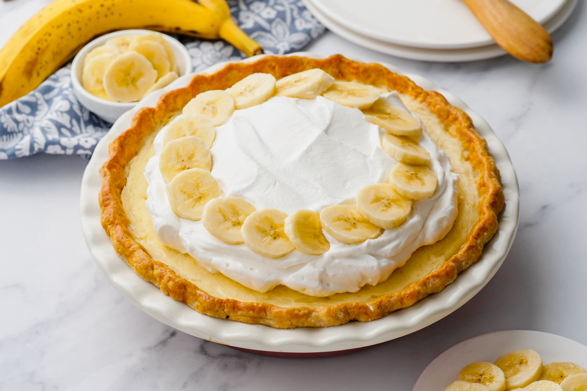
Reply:
M210 175L208 148L214 127L224 124L234 110L262 104L272 96L323 96L363 110L367 121L386 130L381 147L399 162L390 172L389 183L360 189L355 205L298 210L289 216L271 208L257 210L239 197L223 196ZM317 68L280 80L272 74L253 73L227 90L200 93L185 105L166 128L159 168L171 209L184 219L202 220L205 229L222 242L245 243L254 253L269 258L283 257L292 250L319 255L330 248L323 232L346 244L375 239L383 230L406 222L413 202L434 195L438 179L429 168L429 152L417 142L421 132L416 117L386 104L373 86L335 80Z

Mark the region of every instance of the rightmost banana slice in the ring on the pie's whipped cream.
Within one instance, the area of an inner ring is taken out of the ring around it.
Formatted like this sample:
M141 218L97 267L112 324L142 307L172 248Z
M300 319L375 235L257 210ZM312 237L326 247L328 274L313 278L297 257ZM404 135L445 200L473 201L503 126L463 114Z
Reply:
M436 174L428 167L403 163L392 168L389 182L396 192L416 201L433 196L438 186Z

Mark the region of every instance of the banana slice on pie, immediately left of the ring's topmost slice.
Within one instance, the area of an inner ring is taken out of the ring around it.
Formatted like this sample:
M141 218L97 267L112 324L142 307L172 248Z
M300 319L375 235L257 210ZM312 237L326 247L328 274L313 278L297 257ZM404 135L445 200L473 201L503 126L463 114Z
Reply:
M256 106L268 100L275 91L275 77L269 73L253 73L227 90L237 110Z

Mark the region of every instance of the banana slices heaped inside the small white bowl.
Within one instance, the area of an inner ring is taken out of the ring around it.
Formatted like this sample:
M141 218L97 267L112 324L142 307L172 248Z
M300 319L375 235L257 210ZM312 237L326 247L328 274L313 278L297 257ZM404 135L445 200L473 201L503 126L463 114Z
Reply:
M177 77L176 57L163 34L127 34L87 53L82 86L100 99L136 102Z

